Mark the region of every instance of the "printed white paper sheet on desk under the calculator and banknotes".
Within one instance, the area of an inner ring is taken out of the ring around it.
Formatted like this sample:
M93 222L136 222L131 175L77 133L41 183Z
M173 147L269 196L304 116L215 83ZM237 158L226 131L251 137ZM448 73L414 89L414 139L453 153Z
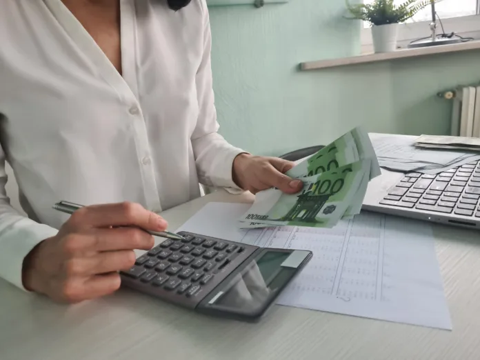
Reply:
M314 257L281 294L281 305L452 329L429 224L362 212L332 229L238 229L249 207L208 203L178 231L311 250Z

